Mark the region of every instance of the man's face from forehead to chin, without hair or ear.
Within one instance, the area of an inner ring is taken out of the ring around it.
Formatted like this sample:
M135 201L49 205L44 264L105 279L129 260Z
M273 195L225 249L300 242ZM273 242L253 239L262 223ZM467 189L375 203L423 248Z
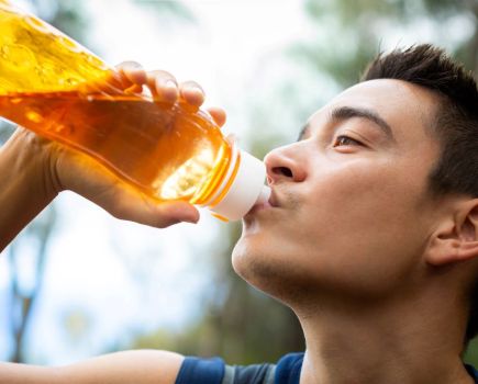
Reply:
M377 297L412 283L436 207L427 190L436 103L431 91L385 79L313 114L297 143L266 157L273 206L244 218L237 273L286 301Z

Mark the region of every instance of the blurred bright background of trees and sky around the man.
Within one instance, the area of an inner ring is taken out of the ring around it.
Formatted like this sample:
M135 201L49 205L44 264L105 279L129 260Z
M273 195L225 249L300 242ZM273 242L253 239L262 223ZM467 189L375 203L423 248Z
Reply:
M194 79L263 157L378 52L445 47L478 69L476 0L13 0L110 64ZM13 127L0 125L0 143ZM157 230L64 192L0 255L0 359L63 364L124 349L246 364L303 349L293 314L234 275L238 224ZM478 363L471 343L467 360Z

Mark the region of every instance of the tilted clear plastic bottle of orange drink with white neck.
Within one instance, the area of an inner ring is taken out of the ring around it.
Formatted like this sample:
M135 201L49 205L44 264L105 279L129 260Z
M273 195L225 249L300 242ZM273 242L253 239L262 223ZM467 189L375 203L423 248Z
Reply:
M227 143L208 114L133 94L114 75L0 0L0 116L88 154L160 201L188 201L234 221L268 199L263 162Z

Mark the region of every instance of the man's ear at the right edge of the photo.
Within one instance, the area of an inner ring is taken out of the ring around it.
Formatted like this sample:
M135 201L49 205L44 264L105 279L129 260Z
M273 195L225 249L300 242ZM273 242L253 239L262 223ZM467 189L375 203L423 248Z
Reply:
M478 257L478 199L460 201L431 236L425 261L445 266Z

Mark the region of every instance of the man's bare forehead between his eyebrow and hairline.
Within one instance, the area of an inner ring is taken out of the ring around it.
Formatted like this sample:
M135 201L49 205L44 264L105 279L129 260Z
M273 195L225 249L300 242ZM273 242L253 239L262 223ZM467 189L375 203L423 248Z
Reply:
M334 109L351 106L375 112L392 128L400 140L431 138L438 97L432 91L402 80L379 79L346 89L313 114L310 127L321 126Z

